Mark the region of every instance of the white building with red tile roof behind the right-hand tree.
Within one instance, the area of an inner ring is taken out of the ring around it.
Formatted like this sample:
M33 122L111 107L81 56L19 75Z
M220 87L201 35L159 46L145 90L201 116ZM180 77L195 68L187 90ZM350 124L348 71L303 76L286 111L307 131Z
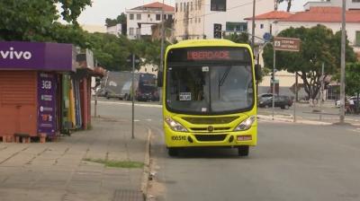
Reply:
M349 0L348 0L349 1ZM350 0L351 1L351 0ZM335 2L335 1L334 1ZM256 16L256 35L263 38L265 32L271 33L276 36L280 31L284 31L290 27L299 28L311 28L318 24L322 24L333 32L341 30L341 7L339 6L318 6L317 3L307 3L305 6L311 4L311 7L305 9L304 12L298 13L283 13L283 12L270 12L263 13ZM320 2L323 4L334 4L333 2ZM340 1L341 3L341 1ZM347 20L347 39L349 45L354 48L358 58L360 57L360 10L354 9L354 6L347 7L346 20ZM250 15L251 16L251 15ZM251 22L252 18L246 19ZM249 26L251 30L251 25ZM257 42L261 42L257 40ZM263 64L260 57L260 64ZM294 74L279 72L276 73L276 77L279 79L280 92L285 94L292 94L290 87L295 82ZM301 81L301 79L299 79ZM299 82L301 83L301 82ZM270 76L266 76L264 81L259 84L260 92L269 92ZM328 98L336 98L336 95L331 95L331 89L328 93Z

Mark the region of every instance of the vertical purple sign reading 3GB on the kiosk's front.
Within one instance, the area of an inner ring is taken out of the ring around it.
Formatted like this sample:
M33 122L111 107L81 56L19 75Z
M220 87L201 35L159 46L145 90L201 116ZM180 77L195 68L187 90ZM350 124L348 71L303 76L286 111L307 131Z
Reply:
M55 135L56 84L55 74L39 73L38 76L38 133Z

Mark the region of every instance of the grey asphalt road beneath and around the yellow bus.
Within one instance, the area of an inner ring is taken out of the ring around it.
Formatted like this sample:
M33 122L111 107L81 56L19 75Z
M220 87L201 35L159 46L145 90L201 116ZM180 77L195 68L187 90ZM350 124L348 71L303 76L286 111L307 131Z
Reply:
M100 115L129 119L130 106L101 103ZM136 107L137 126L153 131L157 200L360 200L360 128L260 121L249 157L231 149L167 156L161 109Z

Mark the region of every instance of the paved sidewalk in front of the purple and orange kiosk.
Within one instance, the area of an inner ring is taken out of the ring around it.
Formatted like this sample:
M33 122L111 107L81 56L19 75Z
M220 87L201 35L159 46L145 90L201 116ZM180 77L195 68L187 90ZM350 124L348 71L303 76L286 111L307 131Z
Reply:
M144 162L148 130L93 121L93 129L46 144L0 143L0 200L141 200L143 169L104 167L84 159ZM127 194L126 199L120 197ZM137 199L135 199L137 197Z

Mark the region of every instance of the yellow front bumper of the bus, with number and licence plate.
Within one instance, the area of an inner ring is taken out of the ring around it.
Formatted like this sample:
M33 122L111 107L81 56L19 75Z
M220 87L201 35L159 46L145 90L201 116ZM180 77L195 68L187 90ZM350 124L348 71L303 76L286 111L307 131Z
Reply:
M257 127L245 131L223 133L175 132L165 127L167 147L257 145Z

